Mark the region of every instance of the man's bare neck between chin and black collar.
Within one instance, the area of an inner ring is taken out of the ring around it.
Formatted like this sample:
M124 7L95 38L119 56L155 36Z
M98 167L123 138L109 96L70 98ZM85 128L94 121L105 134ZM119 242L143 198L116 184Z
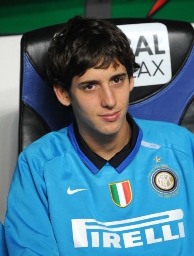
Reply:
M111 159L129 142L131 131L131 127L126 120L121 130L116 134L95 134L94 136L94 132L85 133L79 130L81 137L90 150L106 160Z

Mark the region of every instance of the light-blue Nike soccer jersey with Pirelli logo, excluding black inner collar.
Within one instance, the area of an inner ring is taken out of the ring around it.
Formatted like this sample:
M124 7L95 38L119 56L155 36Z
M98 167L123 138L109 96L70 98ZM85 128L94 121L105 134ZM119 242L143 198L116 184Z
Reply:
M194 254L194 135L135 121L135 146L117 168L98 170L73 125L20 154L5 218L10 255Z

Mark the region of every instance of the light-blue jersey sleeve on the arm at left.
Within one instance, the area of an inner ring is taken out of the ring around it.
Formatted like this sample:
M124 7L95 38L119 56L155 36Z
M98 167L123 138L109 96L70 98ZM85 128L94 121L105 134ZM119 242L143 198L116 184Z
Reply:
M24 153L19 156L8 195L5 239L12 256L59 255L38 160L32 157L29 163Z

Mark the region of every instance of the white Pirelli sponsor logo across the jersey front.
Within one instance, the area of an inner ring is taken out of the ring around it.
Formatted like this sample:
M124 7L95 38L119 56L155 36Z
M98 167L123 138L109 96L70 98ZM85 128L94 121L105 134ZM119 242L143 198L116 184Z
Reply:
M72 219L74 247L129 248L185 237L181 209L120 221Z

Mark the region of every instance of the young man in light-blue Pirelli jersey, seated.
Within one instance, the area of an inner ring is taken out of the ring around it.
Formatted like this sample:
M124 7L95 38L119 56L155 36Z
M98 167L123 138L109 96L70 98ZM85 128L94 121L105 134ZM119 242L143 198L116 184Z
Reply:
M19 156L8 198L10 255L191 255L194 136L128 113L139 66L126 36L70 19L48 76L76 122Z

